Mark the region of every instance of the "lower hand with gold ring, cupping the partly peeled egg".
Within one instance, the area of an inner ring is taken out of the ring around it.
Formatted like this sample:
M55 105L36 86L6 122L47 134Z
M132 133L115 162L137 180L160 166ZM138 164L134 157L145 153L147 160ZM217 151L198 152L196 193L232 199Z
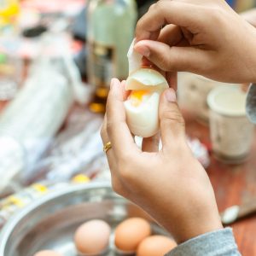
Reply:
M143 139L137 147L125 123L124 83L113 79L102 142L107 152L113 190L142 207L177 242L222 228L212 185L186 142L184 121L173 89L160 98L159 138Z

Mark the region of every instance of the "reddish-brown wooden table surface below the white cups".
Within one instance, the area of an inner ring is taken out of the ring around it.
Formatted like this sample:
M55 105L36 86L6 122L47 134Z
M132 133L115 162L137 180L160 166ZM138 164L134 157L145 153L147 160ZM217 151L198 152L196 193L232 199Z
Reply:
M0 102L0 111L6 102ZM197 137L201 142L211 145L209 128L185 113L186 131L190 137ZM240 165L227 165L211 155L211 165L207 173L215 190L218 209L222 212L241 202L256 200L256 137L253 148L246 162ZM239 250L243 256L256 255L256 214L231 225ZM192 256L192 255L191 255Z

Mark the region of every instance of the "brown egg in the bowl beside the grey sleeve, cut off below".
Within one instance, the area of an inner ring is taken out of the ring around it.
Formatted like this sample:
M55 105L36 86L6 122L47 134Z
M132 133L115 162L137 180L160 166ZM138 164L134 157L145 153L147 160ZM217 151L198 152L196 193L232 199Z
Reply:
M167 236L148 236L137 248L137 256L163 256L177 244Z

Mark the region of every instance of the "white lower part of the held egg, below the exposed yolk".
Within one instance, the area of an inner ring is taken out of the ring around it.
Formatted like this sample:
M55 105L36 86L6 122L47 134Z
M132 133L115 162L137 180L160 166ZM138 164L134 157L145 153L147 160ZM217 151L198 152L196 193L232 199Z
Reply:
M152 137L159 131L159 101L159 91L154 91L138 107L133 106L130 100L125 101L126 122L132 134Z

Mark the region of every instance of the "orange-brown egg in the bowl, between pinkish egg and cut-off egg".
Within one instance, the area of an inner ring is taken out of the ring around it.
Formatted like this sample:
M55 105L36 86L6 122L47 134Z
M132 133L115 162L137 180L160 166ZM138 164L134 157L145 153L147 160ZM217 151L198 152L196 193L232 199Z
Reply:
M114 232L114 244L120 251L135 252L141 241L150 236L151 228L143 218L127 218Z

